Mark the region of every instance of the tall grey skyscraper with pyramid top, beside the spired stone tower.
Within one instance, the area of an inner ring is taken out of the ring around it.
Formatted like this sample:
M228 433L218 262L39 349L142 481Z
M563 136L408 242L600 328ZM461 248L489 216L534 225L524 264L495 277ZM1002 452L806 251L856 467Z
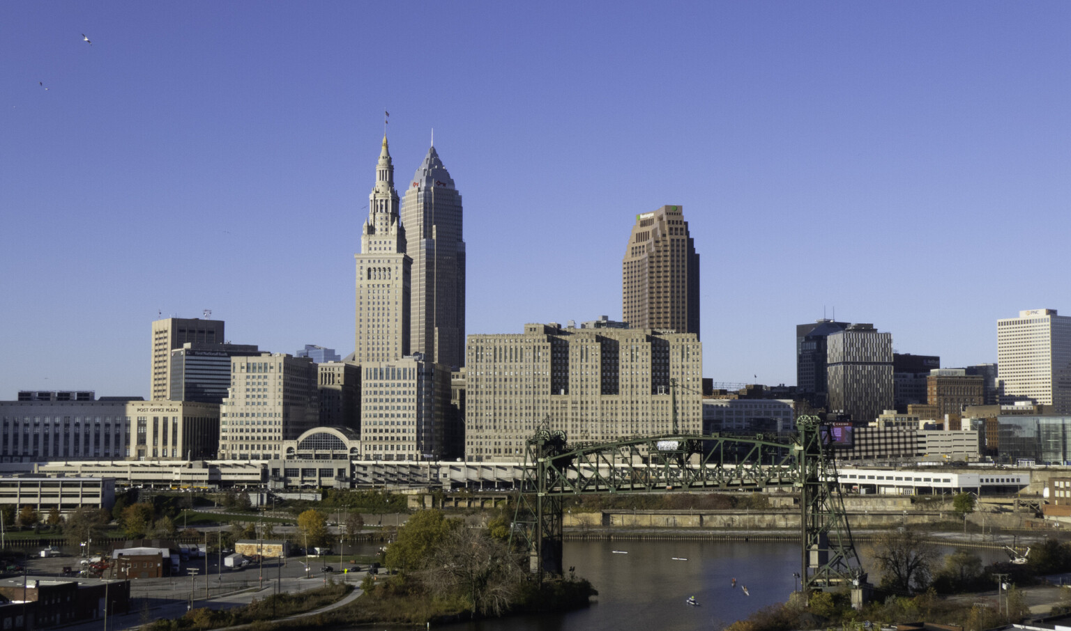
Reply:
M465 365L465 241L462 196L433 144L402 200L412 259L409 350L454 368Z

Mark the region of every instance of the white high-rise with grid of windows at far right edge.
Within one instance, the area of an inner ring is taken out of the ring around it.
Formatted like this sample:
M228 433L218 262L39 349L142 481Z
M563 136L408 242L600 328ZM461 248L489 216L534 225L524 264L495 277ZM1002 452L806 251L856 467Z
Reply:
M997 380L1001 403L1028 400L1071 414L1071 317L1030 309L997 320Z

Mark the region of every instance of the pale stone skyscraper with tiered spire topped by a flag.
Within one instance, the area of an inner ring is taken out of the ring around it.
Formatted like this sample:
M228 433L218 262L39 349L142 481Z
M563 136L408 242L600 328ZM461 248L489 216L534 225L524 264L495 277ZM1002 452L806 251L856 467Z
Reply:
M357 337L353 360L391 361L409 354L409 274L405 229L394 189L394 165L383 135L368 219L357 259Z

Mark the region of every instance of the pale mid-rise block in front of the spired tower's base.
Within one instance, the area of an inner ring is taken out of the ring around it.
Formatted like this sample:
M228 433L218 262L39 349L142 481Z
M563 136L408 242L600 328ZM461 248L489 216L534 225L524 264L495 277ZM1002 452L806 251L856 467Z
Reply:
M361 366L364 460L438 460L450 410L450 368L422 355Z

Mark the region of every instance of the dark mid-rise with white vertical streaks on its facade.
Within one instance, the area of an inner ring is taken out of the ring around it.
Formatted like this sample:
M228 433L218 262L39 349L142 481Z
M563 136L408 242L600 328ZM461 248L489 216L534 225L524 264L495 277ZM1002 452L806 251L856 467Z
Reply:
M851 324L827 344L830 412L870 421L892 409L892 334Z

